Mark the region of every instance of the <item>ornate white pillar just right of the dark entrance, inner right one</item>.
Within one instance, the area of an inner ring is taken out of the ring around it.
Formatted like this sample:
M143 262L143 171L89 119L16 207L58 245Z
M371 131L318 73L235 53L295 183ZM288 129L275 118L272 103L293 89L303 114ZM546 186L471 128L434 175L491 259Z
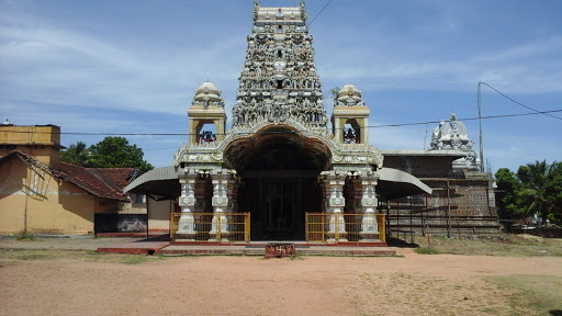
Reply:
M328 214L327 241L347 241L346 219L344 218L344 206L346 206L344 184L346 184L346 174L331 170L326 173L326 184L329 190L328 207L326 208Z

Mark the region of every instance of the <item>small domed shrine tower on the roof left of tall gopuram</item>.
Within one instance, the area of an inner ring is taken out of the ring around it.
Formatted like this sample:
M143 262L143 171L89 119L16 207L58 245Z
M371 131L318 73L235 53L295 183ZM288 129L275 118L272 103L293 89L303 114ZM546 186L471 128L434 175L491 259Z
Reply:
M196 90L188 109L189 145L222 140L226 129L226 114L221 90L205 81ZM215 131L203 131L203 125L213 124ZM213 133L214 132L214 133Z

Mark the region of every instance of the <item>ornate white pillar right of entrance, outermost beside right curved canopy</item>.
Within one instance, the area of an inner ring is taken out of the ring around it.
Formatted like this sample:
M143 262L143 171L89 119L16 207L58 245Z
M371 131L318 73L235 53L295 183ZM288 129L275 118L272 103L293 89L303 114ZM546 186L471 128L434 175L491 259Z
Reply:
M361 177L361 184L363 195L361 198L361 206L363 211L363 221L361 232L359 232L360 241L379 241L379 225L376 223L376 200L375 187L379 178L369 172L367 176Z

